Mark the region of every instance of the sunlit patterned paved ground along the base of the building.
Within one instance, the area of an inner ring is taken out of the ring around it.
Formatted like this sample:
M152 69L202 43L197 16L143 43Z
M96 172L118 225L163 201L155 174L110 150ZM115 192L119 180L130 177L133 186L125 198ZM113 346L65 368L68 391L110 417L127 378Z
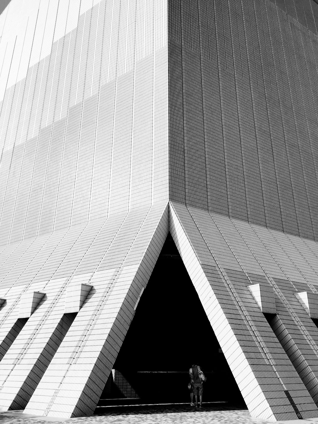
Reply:
M48 418L22 414L22 411L0 412L1 424L269 424L251 418L248 410L231 406L206 404L204 409L190 405L148 405L129 407L100 407L95 415L82 418ZM310 420L279 421L288 424L318 424Z

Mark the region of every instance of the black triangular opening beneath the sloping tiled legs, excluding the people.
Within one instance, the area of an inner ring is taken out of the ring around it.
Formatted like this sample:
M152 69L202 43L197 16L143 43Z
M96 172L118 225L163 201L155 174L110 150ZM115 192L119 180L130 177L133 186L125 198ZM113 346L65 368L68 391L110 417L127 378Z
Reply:
M207 377L204 402L245 405L169 234L114 369L138 393L139 403L189 402L188 371L195 362ZM124 397L114 384L109 388L101 399Z

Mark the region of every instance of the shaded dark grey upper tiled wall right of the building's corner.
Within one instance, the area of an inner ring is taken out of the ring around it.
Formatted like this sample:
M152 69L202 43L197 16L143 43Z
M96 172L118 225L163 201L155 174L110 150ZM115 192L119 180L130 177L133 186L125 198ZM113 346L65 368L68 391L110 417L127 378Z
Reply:
M317 25L312 0L169 2L171 201L317 239Z

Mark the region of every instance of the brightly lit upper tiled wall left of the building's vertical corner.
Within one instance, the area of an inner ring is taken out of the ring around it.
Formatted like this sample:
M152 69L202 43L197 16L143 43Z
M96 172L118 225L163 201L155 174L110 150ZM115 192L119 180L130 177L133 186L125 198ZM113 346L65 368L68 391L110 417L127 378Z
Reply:
M0 245L167 200L165 4L12 0L1 15Z

